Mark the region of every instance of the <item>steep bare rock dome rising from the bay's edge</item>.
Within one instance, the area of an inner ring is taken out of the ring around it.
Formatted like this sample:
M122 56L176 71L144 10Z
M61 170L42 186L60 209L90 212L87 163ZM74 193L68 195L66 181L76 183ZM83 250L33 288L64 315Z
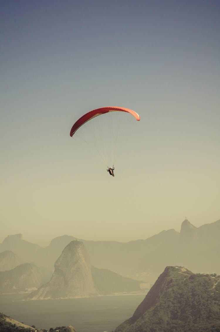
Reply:
M98 295L92 279L89 255L82 242L71 241L55 262L54 268L49 283L33 292L29 299Z

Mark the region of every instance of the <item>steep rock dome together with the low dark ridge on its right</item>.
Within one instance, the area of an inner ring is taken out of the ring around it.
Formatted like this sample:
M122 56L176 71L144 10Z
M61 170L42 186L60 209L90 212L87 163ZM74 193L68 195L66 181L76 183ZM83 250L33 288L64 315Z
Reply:
M28 299L55 299L130 293L140 291L140 282L90 265L88 252L81 241L71 241L54 264L48 283Z

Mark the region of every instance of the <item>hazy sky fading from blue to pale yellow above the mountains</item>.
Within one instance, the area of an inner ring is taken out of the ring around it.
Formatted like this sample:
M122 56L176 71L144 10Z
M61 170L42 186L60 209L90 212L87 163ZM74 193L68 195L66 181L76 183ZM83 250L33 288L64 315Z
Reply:
M220 218L219 17L218 0L0 2L0 242L129 241ZM69 136L103 106L141 117L114 178Z

